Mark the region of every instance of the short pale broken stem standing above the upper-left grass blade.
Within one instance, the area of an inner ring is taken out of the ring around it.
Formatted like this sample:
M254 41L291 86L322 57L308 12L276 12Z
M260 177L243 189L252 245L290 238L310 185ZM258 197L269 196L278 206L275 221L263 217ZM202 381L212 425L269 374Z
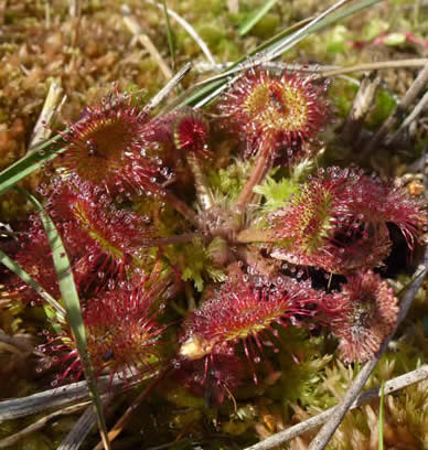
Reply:
M33 129L33 133L31 135L28 152L34 151L35 147L49 139L51 135L49 125L51 124L53 116L60 110L66 98L66 96L63 96L60 101L62 94L63 88L61 86L60 79L54 79L49 87L42 111L40 113L39 119Z

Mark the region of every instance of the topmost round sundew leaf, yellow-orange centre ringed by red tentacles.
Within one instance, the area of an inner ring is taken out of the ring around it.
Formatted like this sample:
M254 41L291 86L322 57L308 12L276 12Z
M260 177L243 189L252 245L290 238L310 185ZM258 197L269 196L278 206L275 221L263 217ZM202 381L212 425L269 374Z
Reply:
M299 72L276 76L250 68L223 95L218 109L247 142L247 154L256 153L267 140L272 157L287 150L289 158L329 120L324 90L325 85L315 85Z

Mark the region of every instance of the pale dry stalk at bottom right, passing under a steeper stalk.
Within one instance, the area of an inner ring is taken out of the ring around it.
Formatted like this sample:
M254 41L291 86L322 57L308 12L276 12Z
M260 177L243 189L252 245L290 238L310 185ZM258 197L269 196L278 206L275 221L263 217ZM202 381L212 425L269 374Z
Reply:
M408 372L405 375L397 376L393 379L389 379L384 384L384 395L395 393L404 387L410 386L415 383L419 383L428 378L428 365L424 365L413 372ZM378 398L381 395L381 386L374 387L373 389L366 390L365 393L360 394L355 401L351 405L350 409L355 409L361 405L364 405L375 398ZM336 410L338 406L327 409L325 411L311 417L293 427L287 428L283 431L277 432L276 435L258 442L252 447L248 447L246 450L270 450L275 447L279 447L282 443L296 438L297 436L303 435L313 428L319 427L324 424L332 414Z

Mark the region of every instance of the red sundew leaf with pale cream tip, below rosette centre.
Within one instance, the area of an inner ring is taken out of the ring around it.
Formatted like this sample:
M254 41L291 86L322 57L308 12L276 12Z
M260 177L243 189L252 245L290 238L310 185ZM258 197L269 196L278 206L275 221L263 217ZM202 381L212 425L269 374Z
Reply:
M322 298L307 282L229 280L186 318L179 355L195 361L240 343L257 383L254 363L260 362L263 345L275 352L277 343L286 346L275 326L302 325L304 317L315 314Z

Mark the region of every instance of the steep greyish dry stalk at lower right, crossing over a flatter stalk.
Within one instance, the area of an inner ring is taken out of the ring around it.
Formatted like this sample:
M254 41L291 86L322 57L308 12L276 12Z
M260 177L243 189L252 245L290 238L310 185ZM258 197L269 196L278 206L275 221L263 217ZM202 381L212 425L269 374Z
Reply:
M428 72L428 71L427 71ZM363 368L356 375L355 379L351 383L351 386L349 387L346 394L344 395L342 401L340 405L338 405L336 409L334 409L334 413L331 415L330 420L321 428L319 433L315 436L315 438L312 440L310 443L308 450L323 450L325 446L329 443L331 437L333 436L334 431L341 424L344 415L346 411L350 409L351 405L354 403L355 398L359 396L361 390L363 389L365 383L367 382L370 375L372 374L373 369L375 368L376 364L381 360L381 356L385 352L385 350L388 346L388 343L390 339L394 336L395 331L397 330L397 326L400 324L403 319L406 317L408 309L410 308L410 304L416 296L416 292L420 288L421 283L424 282L424 278L427 275L427 268L428 268L428 248L425 250L424 255L424 261L422 264L418 267L417 275L414 278L414 281L411 285L408 287L406 290L406 293L404 294L402 302L400 302L400 310L398 313L398 319L397 319L397 324L394 329L394 331L385 339L383 342L381 349L376 353L375 357L371 361L368 361Z

